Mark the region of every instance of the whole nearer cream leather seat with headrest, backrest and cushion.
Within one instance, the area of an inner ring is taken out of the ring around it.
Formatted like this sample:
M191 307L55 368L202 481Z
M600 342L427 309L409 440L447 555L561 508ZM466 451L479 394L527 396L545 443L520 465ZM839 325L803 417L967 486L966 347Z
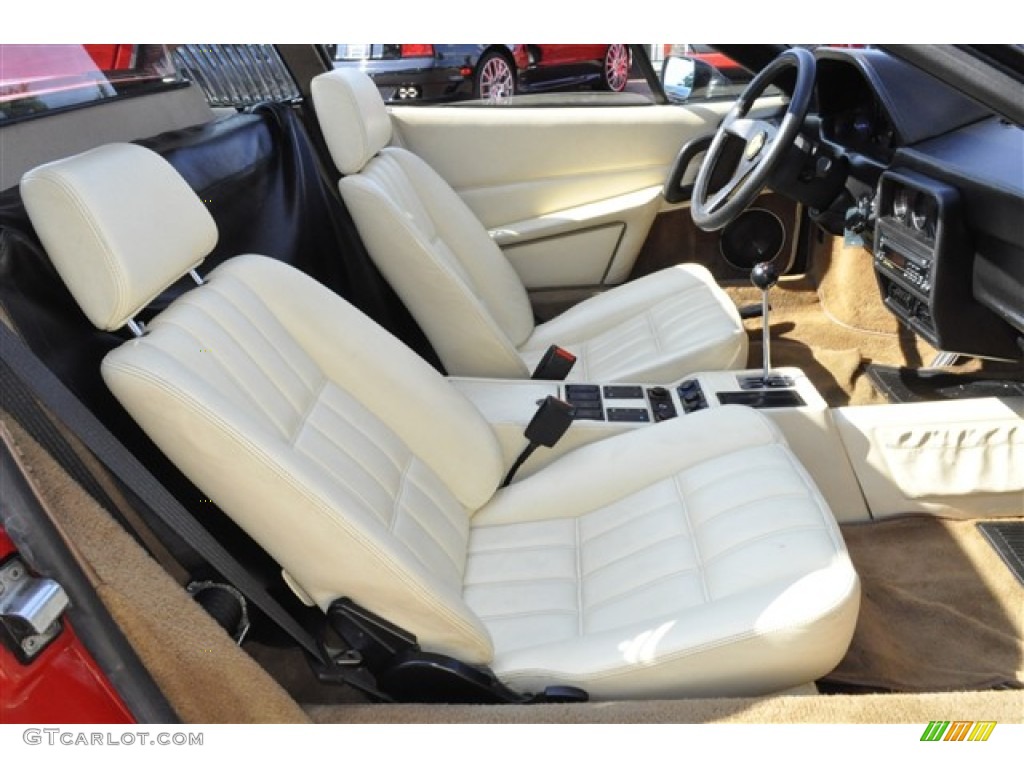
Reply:
M22 191L101 329L217 239L184 181L136 145L42 166ZM859 585L838 526L755 411L591 443L498 489L498 439L455 387L258 255L214 269L102 376L298 591L325 609L347 596L517 690L764 693L823 675L850 642Z

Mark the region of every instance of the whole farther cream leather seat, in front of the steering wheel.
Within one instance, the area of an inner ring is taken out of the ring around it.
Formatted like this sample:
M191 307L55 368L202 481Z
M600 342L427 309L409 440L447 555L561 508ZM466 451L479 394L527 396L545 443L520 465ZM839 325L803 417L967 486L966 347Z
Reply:
M526 290L451 186L388 146L391 119L370 78L312 81L339 186L370 255L454 376L528 378L551 344L578 357L570 380L670 383L746 365L746 334L703 267L664 269L535 326Z

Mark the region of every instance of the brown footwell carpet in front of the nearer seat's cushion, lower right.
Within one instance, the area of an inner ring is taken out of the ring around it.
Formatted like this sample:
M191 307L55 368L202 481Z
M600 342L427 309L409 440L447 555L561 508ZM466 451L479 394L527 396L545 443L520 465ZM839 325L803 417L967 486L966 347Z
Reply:
M843 536L861 609L823 690L1024 687L1024 588L975 521L907 516Z

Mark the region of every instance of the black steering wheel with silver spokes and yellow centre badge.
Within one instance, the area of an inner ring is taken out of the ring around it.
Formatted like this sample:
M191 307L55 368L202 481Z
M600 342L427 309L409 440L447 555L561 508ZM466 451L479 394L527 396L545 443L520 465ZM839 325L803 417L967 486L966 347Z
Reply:
M796 85L781 121L746 117L779 73L795 69ZM814 54L791 48L758 73L725 116L700 164L690 215L714 231L746 210L797 138L814 91ZM730 170L731 169L731 170Z

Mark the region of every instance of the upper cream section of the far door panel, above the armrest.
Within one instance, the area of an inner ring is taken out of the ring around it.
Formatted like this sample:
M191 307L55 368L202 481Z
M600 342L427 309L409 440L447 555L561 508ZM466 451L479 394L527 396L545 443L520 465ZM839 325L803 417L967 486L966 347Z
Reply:
M392 108L391 118L401 144L498 228L660 186L680 147L730 105L417 106Z

